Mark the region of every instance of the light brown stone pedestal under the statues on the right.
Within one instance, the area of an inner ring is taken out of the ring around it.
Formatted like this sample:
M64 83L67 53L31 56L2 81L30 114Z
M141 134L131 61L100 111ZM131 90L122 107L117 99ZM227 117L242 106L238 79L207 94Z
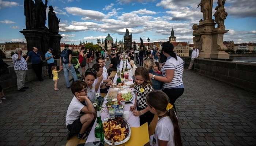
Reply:
M200 49L200 58L229 59L223 44L223 35L228 30L215 28L215 24L214 20L204 20L193 26L194 44Z

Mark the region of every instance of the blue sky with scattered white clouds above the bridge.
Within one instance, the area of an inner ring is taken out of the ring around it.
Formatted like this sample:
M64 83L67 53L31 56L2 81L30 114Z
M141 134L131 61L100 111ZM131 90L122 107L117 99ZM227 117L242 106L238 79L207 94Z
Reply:
M78 44L93 41L109 33L117 41L125 28L133 41L148 37L167 41L172 27L177 41L192 42L192 25L203 17L200 0L48 0L61 18L61 42ZM214 0L215 8L217 0ZM256 42L256 0L226 0L225 41ZM215 10L212 14L214 14ZM47 13L48 14L48 10ZM214 19L214 17L213 17ZM48 20L46 20L48 26ZM0 42L26 41L23 0L0 0Z

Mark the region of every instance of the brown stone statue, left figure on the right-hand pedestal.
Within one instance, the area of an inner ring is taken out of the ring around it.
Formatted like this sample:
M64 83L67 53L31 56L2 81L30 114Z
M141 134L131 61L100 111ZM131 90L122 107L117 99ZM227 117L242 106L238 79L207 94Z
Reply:
M200 4L197 5L197 8L201 7L201 12L203 13L203 20L212 19L212 4L213 0L201 0Z

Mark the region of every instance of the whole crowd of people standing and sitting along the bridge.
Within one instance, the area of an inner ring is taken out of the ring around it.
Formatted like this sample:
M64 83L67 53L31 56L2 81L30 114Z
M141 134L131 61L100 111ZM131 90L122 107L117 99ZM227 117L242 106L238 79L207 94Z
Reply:
M121 59L127 58L131 65L134 76L135 86L134 93L136 95L135 103L130 107L130 111L134 116L140 117L140 125L151 123L154 115L158 115L158 122L155 134L151 135L151 146L181 146L180 128L177 120L177 110L175 102L184 92L182 75L184 69L184 61L174 52L174 46L170 42L162 43L162 50L143 48L136 51L90 51L85 47L80 49L79 64L82 70L82 80L78 81L78 77L72 64L72 51L65 45L65 49L60 55L60 69L54 64L53 50L49 49L45 54L48 64L49 78L54 81L54 90L57 91L57 82L59 80L58 73L64 71L66 87L71 88L74 97L69 104L66 125L69 131L68 138L78 135L80 139L86 139L90 128L95 120L96 112L93 107L95 100L102 101L103 97L99 96L95 99L97 93L108 93L109 87L112 85L111 72L117 70ZM96 55L96 63L92 65ZM196 49L192 52L191 65L193 59L198 56ZM18 91L25 91L25 77L27 61L30 59L32 67L39 81L42 78L42 57L39 55L37 47L33 47L33 51L28 53L26 59L23 58L22 49L17 48L12 56L14 62L14 70L17 75ZM109 68L105 67L106 61L110 59ZM139 64L137 67L135 62ZM87 68L86 68L87 66ZM71 73L74 81L70 84L69 73ZM3 91L1 89L1 91ZM5 99L1 92L1 99Z

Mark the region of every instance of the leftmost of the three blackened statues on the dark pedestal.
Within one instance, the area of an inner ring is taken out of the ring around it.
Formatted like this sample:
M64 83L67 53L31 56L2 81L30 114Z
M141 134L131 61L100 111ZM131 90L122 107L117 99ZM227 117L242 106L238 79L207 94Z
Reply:
M33 0L24 0L24 15L26 17L26 28L36 28L35 3Z

